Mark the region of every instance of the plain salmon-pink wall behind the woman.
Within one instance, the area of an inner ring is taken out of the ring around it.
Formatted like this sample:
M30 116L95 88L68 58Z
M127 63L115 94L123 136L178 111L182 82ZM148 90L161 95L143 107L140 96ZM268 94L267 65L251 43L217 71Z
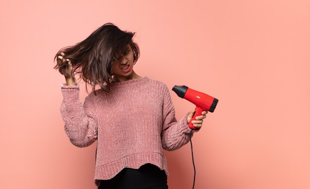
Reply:
M64 133L53 56L112 22L137 32L139 75L219 99L193 138L196 189L309 189L309 10L309 0L0 1L0 188L96 188L96 143L77 148ZM180 119L193 105L171 96ZM190 189L190 145L165 154L169 188Z

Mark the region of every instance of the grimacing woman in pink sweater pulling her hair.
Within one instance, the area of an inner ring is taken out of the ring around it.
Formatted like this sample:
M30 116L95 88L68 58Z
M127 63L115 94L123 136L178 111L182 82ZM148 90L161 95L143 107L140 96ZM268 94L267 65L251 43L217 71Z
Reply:
M106 23L55 55L54 68L66 79L60 84L66 135L78 147L98 140L98 189L167 189L162 149L178 149L193 135L188 123L195 108L177 121L167 86L133 70L140 53L134 34ZM83 105L76 73L93 89ZM202 114L193 132L202 127L207 112Z

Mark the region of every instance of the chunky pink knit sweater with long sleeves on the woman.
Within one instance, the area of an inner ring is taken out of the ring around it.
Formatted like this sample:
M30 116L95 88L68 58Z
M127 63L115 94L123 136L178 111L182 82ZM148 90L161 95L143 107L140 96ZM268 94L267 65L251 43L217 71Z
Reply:
M167 86L142 77L113 83L111 94L102 89L89 94L82 105L79 84L60 84L60 112L70 142L86 147L98 140L95 184L114 177L123 168L152 163L168 175L165 150L189 142L188 112L180 121ZM194 132L197 132L194 131Z

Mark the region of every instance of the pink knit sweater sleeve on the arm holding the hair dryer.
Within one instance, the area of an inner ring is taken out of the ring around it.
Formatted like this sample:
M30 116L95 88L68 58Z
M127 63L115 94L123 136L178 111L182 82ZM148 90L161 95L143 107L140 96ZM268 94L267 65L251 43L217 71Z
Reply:
M187 116L190 114L190 111L180 121L177 121L170 93L166 85L164 85L163 95L161 143L165 150L172 151L179 149L190 140L189 135L191 129L187 123ZM193 133L199 130L193 130Z

